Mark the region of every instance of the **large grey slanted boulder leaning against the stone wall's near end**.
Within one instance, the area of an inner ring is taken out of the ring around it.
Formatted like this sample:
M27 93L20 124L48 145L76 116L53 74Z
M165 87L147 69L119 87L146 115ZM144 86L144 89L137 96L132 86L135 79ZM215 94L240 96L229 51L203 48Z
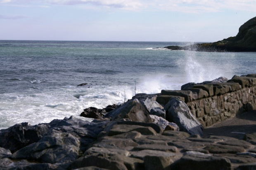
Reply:
M187 132L190 135L203 134L201 123L190 112L185 102L172 98L164 109L166 110L166 119L169 122L176 123L180 127L180 131Z

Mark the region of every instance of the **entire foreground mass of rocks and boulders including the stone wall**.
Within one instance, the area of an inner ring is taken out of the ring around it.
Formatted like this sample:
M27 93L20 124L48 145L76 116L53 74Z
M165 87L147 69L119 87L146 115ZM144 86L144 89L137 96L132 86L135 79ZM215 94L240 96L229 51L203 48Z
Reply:
M85 109L82 116L97 116L92 122L71 116L0 130L0 169L254 170L256 132L242 140L203 135L204 127L250 110L256 74L137 94Z

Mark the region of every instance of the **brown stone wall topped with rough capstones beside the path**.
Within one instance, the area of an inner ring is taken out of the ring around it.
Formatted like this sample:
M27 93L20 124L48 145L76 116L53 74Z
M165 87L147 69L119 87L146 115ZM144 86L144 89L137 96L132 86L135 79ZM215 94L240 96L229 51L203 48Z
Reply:
M256 74L225 83L188 83L183 90L162 90L156 101L164 105L171 97L183 100L204 127L211 126L256 109Z

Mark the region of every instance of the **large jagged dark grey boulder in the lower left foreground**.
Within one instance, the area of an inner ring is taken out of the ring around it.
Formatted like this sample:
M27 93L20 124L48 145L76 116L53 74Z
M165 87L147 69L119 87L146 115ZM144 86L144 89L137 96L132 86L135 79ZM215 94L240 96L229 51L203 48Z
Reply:
M80 142L77 137L66 132L51 131L40 141L13 153L12 158L52 163L67 168L78 157L79 148Z

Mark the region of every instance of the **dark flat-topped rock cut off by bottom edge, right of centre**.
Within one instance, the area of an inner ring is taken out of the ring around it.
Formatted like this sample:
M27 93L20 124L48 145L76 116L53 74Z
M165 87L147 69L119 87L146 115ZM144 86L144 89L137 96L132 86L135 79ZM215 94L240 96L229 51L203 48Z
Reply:
M227 158L206 155L185 155L171 165L174 170L232 170Z

